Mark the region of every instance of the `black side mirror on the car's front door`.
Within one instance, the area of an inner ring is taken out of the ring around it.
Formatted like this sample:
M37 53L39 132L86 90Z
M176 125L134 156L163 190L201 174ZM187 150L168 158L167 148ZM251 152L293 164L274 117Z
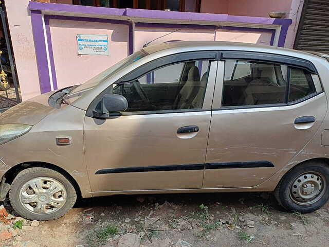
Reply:
M108 118L110 112L123 112L127 110L128 102L120 94L105 94L93 111L94 117Z

